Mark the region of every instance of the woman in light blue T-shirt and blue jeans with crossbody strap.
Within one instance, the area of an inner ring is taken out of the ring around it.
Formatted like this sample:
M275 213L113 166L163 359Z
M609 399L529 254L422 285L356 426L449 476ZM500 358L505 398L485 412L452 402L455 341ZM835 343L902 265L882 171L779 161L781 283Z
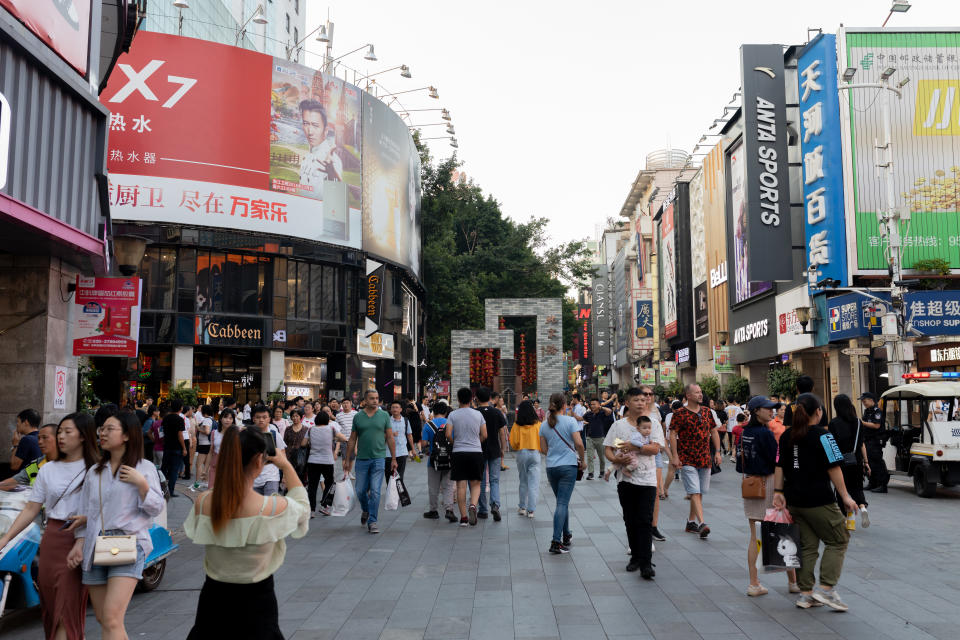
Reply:
M547 480L557 497L553 512L553 539L550 553L569 553L570 496L577 483L577 471L586 466L580 425L572 416L563 415L566 398L562 393L550 396L550 413L540 425L540 451L547 456Z

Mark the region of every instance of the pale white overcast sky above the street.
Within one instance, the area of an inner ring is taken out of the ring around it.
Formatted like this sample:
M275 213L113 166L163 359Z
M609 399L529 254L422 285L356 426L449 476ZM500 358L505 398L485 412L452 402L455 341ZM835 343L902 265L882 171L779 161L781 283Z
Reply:
M334 55L378 76L408 109L446 107L464 170L517 220L551 221L554 241L617 216L650 151L690 151L740 84L743 43L802 44L807 27L879 27L891 0L306 0L307 31L330 18ZM960 28L960 1L914 0L887 28ZM319 52L312 39L308 50ZM319 66L319 58L308 57ZM439 113L414 123L440 122ZM444 135L428 127L425 135ZM431 143L435 157L453 151Z

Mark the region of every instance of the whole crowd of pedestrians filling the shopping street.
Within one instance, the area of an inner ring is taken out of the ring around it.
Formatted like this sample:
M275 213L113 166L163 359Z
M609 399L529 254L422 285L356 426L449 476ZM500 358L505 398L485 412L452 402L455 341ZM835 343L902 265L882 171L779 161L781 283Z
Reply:
M544 467L555 498L549 552L557 555L574 544L577 482L606 480L616 485L621 506L626 570L653 579L655 542L667 540L658 526L660 502L669 499L671 482L679 478L690 503L682 530L707 540L705 498L729 456L738 473L762 486L743 498L747 595L767 593L759 582L757 529L769 510L786 509L801 540L800 566L786 573L788 591L799 594L801 608L846 610L836 590L849 540L844 519L859 513L869 526L863 482L869 477L870 488L885 491L889 479L870 444L882 430L882 412L864 394L858 418L851 398L840 394L827 423L804 378L792 402L756 396L745 404L718 403L688 384L675 398L655 398L646 385L586 399L555 393L545 409L524 396L509 412L484 387L457 390L455 409L445 398L381 405L372 389L358 399L359 410L352 399L238 407L233 398L217 406L172 398L136 409L105 405L96 415L41 425L27 409L17 416L17 474L0 490L33 484L33 493L0 536L0 548L43 511L38 584L47 637L82 638L88 598L104 637L126 637L126 607L152 549L148 529L164 508L162 479L169 496L182 479L194 497L185 531L205 546L206 581L190 637L279 637L272 576L283 563L284 540L305 535L310 518L330 515L330 497L348 478L360 523L376 534L384 486L403 481L408 461L425 460L423 517L471 527L502 519L500 479L512 451L519 516L536 517ZM850 454L846 464L836 452ZM100 536L132 536L130 562L99 564ZM238 601L245 606L233 607L236 615L217 613Z

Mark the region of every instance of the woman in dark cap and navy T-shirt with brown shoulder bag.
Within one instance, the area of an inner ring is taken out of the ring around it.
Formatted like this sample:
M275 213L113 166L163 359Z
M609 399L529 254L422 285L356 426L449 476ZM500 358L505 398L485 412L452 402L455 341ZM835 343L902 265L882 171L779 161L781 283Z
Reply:
M762 498L744 498L743 515L750 525L750 542L747 545L747 571L750 574L750 584L747 586L748 596L762 596L767 588L760 584L757 576L757 523L762 522L767 509L773 506L773 474L777 465L777 440L773 432L767 427L773 419L779 403L764 396L750 398L747 407L750 409L750 422L743 428L739 445L736 448L737 473L762 478L766 495ZM797 573L793 569L787 571L787 588L790 593L799 593Z

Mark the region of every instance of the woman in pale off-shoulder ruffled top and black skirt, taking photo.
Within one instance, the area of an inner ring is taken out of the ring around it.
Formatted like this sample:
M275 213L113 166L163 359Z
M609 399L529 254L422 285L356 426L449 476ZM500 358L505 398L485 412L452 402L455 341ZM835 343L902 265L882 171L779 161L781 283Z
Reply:
M266 462L284 472L286 498L253 490ZM273 573L283 564L284 538L302 538L309 522L307 492L287 456L267 456L256 430L230 427L220 445L213 491L199 496L183 523L194 543L206 545L207 579L188 640L283 638Z

